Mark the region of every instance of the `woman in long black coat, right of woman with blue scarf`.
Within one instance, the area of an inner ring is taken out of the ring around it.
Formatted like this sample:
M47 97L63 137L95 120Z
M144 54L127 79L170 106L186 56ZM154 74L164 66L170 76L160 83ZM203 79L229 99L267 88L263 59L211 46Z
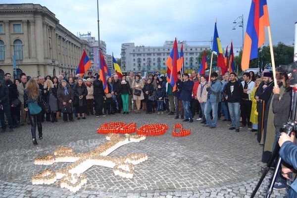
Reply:
M82 114L82 118L86 119L85 113L87 109L87 99L88 95L87 86L84 83L82 78L78 79L75 87L74 87L74 100L77 111L77 119L80 119L80 114Z

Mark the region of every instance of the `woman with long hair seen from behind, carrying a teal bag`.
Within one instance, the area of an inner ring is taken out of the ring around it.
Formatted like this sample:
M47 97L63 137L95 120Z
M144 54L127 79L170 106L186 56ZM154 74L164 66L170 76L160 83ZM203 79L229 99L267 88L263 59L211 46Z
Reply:
M33 145L38 145L36 141L36 125L38 128L39 139L43 139L42 137L42 91L39 89L39 86L34 79L30 79L26 84L26 88L24 90L24 109L28 111L28 117L31 122L31 133L32 133L32 142Z

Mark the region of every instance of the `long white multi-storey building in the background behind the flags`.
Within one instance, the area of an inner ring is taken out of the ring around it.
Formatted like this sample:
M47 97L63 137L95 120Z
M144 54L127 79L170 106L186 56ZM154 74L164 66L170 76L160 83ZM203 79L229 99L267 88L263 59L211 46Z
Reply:
M159 70L164 73L167 69L166 60L173 48L174 41L165 41L160 47L135 46L134 43L124 43L121 48L123 72L152 72ZM210 46L190 46L187 41L178 42L180 52L183 44L184 64L187 70L198 70L200 51L210 49Z

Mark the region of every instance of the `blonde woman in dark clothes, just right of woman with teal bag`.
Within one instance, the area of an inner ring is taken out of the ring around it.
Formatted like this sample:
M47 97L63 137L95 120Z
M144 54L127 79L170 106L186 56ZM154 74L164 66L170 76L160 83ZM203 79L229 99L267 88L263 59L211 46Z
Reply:
M51 122L57 122L57 111L58 111L58 103L57 103L57 88L53 86L51 80L46 80L44 90L46 91L47 101L50 106L50 116Z

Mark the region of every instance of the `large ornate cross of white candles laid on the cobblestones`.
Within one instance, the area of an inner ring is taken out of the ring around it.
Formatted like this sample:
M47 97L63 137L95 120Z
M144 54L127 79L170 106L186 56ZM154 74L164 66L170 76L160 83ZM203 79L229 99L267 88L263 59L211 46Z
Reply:
M136 126L135 126L136 127ZM71 192L77 192L87 183L87 177L83 173L92 166L105 166L113 168L115 175L124 178L133 178L134 165L148 159L147 154L132 153L124 157L113 158L107 156L117 148L129 144L138 143L146 139L145 135L121 136L115 133L106 135L105 142L87 153L75 153L72 148L59 147L54 150L53 155L47 154L34 159L34 164L49 165L56 162L73 162L66 168L60 170L44 170L32 177L33 185L53 184L60 180L61 188L66 188Z

